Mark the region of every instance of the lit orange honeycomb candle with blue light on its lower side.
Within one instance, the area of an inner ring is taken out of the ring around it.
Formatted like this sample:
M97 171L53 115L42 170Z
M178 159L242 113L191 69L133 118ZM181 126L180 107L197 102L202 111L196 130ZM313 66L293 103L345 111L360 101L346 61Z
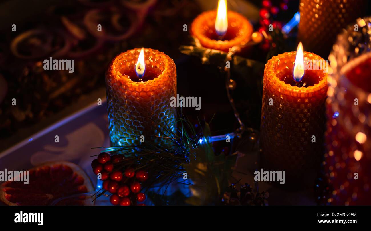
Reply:
M133 49L116 56L106 73L113 146L139 144L141 135L145 141L166 142L157 136L175 130L176 110L170 106L170 98L177 94L175 63L158 50L144 49L146 70L140 81L135 73L139 52Z

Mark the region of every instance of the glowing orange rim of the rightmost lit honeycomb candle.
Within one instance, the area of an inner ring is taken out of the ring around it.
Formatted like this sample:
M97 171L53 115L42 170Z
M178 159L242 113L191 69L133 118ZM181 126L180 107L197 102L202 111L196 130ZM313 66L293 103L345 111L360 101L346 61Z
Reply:
M321 56L316 55L312 52L304 51L303 54L304 54L304 57L307 57L307 58L308 58L308 56L313 55L313 57L311 57L311 59L323 59ZM292 58L293 62L294 62L295 61L295 56L296 56L296 51L285 52L285 53L279 54L277 56L273 56L266 63L265 70L264 70L264 72L265 72L264 76L266 76L266 70L269 69L269 68L272 69L272 72L274 73L273 78L276 79L275 82L279 82L279 86L282 87L282 90L280 89L281 93L285 93L286 91L295 92L295 93L313 93L313 92L321 90L322 88L327 86L328 73L324 73L324 72L323 72L322 80L319 81L319 83L315 84L314 86L308 86L306 88L298 87L298 86L292 86L292 85L290 85L288 83L285 83L282 80L280 80L276 75L276 73L277 73L276 68L278 66L277 62L278 62L278 60L283 59L284 57L287 58L288 56L290 57L290 59ZM306 71L308 71L308 70L306 70ZM269 76L267 76L267 77L269 77Z

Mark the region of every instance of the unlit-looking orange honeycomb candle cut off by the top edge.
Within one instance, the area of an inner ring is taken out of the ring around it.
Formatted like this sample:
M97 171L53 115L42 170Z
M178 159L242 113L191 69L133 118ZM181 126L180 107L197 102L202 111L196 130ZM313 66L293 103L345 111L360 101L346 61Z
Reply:
M327 57L336 35L367 9L366 0L301 0L298 41L305 50Z

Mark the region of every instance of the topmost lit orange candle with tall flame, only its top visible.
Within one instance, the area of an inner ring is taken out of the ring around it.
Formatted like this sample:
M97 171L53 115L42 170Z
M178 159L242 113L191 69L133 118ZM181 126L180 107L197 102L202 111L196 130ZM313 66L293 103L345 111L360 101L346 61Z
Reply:
M253 26L244 16L227 11L226 0L219 0L217 10L197 16L191 26L191 34L203 47L222 51L244 46L250 41L252 32Z

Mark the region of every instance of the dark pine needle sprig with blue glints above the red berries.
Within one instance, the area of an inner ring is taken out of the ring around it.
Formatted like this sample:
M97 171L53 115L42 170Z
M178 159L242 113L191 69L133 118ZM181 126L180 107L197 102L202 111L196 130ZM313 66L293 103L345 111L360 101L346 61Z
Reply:
M151 188L158 188L158 191L164 188L162 191L166 191L171 183L183 179L184 166L190 163L191 150L200 144L203 130L200 126L199 131L196 131L190 120L182 113L180 115L179 118L166 121L165 125L152 120L160 127L160 131L156 136L145 137L145 142L103 147L105 152L111 155L125 156L124 161L115 166L115 170L133 168L134 171L139 169L148 171L149 178L142 185L145 188L144 192ZM122 139L138 141L140 137L130 136ZM157 141L154 141L155 139Z

